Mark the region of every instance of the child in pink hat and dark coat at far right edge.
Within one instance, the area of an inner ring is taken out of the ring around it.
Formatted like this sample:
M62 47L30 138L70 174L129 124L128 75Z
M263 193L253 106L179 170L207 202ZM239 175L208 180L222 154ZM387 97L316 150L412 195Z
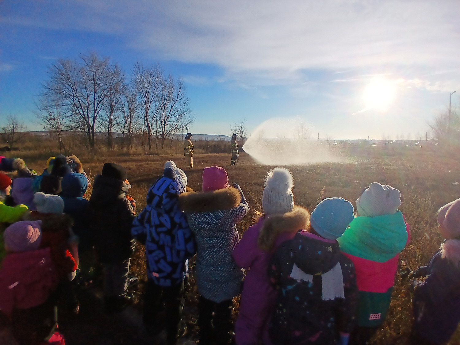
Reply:
M441 207L437 222L446 241L412 274L426 276L414 282L414 345L446 344L460 322L460 199Z

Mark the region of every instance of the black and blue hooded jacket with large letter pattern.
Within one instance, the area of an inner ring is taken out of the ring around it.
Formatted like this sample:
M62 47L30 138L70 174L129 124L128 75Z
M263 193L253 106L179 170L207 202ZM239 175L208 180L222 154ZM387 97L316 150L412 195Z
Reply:
M147 277L160 286L182 283L187 260L196 253L195 237L178 205L183 192L178 181L157 179L147 193L147 206L132 224L132 236L145 244Z

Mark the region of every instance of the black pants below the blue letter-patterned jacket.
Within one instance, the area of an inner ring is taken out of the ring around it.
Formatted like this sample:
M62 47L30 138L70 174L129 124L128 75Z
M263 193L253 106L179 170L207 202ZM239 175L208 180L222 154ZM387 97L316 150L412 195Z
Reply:
M184 309L184 282L182 284L163 287L154 282L147 282L144 299L144 323L153 333L163 328L167 331L168 344L175 344ZM160 314L164 311L162 322ZM160 326L164 324L163 326Z

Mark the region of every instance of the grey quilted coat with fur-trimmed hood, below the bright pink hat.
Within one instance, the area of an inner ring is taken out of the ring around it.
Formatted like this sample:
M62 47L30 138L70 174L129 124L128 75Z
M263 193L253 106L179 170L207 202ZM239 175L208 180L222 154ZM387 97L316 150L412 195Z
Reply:
M198 292L216 303L233 299L241 292L243 278L232 257L240 242L236 223L249 212L240 186L183 193L179 206L187 214L198 247L194 271Z

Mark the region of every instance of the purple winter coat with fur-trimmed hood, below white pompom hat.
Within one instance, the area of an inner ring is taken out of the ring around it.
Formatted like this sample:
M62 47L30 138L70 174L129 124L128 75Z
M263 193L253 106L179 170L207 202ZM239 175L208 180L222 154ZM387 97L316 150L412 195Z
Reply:
M308 219L308 212L300 207L294 208L293 212L265 216L246 230L235 247L233 258L236 265L246 270L235 324L236 345L259 344L260 339L265 345L271 344L268 323L278 292L270 284L268 265L276 249L303 229ZM270 252L258 246L260 232L267 229L278 234L274 236L276 239Z

